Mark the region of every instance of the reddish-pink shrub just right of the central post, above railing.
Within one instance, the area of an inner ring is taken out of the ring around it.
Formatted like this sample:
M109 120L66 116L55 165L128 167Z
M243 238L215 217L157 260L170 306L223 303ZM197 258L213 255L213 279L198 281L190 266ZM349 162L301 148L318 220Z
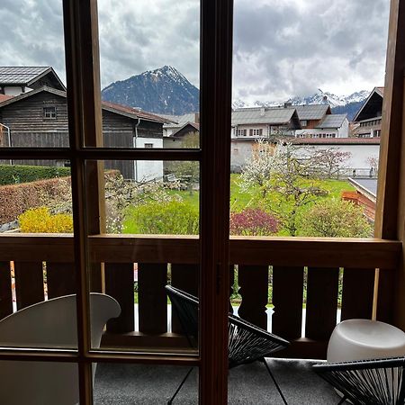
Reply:
M269 236L278 231L275 216L259 208L247 208L241 212L231 212L229 231L231 235Z

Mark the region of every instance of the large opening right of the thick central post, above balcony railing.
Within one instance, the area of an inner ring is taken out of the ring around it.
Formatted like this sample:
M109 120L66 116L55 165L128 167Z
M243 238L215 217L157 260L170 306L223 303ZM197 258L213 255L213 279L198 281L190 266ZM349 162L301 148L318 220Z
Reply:
M230 234L373 236L389 4L369 5L235 2Z

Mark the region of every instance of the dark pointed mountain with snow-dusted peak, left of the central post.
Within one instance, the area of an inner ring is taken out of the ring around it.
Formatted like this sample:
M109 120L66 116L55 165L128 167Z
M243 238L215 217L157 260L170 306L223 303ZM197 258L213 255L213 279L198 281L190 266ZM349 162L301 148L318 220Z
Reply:
M199 111L199 90L175 67L164 66L112 83L103 100L148 112L182 115Z

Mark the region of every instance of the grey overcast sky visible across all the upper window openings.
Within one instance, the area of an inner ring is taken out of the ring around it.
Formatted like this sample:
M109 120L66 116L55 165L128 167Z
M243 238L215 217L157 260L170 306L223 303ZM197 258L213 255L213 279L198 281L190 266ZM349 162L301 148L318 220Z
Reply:
M389 0L235 0L234 99L383 85ZM52 66L65 81L61 0L1 0L3 66ZM171 65L199 81L199 3L99 0L102 86Z

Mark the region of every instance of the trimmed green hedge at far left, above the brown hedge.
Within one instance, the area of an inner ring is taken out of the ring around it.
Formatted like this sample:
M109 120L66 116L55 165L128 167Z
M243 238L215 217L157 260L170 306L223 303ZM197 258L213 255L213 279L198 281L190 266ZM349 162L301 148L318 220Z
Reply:
M0 165L0 185L30 183L70 175L70 167Z

